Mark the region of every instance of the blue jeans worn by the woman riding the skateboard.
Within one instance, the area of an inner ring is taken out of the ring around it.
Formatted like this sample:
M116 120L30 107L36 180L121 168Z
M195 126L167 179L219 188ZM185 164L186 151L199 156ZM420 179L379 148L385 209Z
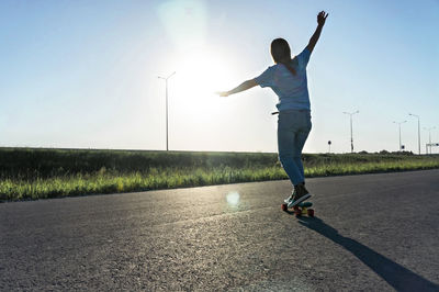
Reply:
M301 154L311 127L311 113L307 110L291 110L279 113L279 160L294 186L305 182Z

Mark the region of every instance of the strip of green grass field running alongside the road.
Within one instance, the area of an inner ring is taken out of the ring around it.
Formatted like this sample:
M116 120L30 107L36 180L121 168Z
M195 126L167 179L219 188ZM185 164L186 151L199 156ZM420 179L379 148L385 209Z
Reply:
M439 168L439 156L304 154L305 176ZM286 179L277 154L0 148L0 201Z

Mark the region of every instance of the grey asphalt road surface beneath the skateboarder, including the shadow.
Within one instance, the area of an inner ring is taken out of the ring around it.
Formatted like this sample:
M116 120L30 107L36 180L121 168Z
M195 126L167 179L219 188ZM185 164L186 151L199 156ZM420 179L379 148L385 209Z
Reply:
M0 204L0 290L439 291L439 170Z

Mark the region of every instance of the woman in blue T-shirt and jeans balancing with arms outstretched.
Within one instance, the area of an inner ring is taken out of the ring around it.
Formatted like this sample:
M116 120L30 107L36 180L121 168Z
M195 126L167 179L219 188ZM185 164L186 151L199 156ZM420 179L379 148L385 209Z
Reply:
M277 104L279 160L294 186L293 193L286 200L288 207L295 206L311 196L305 188L301 160L302 149L312 127L306 65L327 16L325 11L318 13L317 29L307 46L297 56L291 58L288 42L275 38L271 43L271 56L275 63L273 66L268 67L255 79L247 80L229 91L218 92L221 97L228 97L259 85L270 87L279 97Z

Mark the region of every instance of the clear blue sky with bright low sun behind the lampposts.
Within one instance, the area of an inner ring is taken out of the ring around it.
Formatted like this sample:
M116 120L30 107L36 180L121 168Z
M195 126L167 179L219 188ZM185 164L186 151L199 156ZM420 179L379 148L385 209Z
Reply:
M308 64L305 153L439 143L439 1L0 1L0 146L277 151L277 97L219 98L299 54L329 13ZM439 149L436 149L438 153Z

